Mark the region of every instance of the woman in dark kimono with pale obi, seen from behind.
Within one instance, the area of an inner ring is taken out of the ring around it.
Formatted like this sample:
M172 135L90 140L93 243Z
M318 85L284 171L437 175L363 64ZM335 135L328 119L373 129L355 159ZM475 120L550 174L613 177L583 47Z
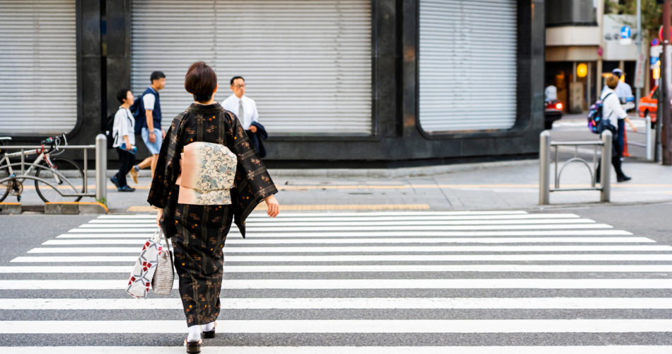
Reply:
M195 102L170 125L147 200L159 208L156 220L172 240L187 317L187 353L199 353L202 336L214 338L222 249L231 223L245 237L245 218L262 200L270 217L279 212L277 189L243 125L214 102L217 88L211 67L191 65L185 89Z

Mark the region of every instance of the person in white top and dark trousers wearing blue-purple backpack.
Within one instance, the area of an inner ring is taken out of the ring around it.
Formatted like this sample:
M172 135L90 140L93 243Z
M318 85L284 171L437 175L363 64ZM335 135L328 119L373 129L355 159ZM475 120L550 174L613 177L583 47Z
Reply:
M620 144L623 139L621 137L625 132L626 122L628 125L630 125L633 132L637 132L637 127L632 124L630 118L627 117L627 113L625 113L625 110L623 110L621 107L620 101L618 101L618 96L616 96L616 93L614 92L616 86L618 86L618 77L614 75L609 76L607 78L607 88L600 96L600 99L602 101L602 117L603 119L609 120L613 126L612 132L614 132L614 135L612 144L613 149L611 152L611 164L614 166L616 171L616 181L625 182L630 181L631 178L625 176L625 173L623 173L621 170L620 159L623 156L623 147L622 144ZM598 182L600 181L600 169L601 166L598 165L596 173Z

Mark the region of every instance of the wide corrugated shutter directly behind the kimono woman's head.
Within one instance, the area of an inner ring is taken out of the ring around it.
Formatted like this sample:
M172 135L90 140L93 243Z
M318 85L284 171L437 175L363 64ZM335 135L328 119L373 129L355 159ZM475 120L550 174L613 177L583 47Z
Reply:
M272 135L371 134L370 0L133 0L132 89L166 74L164 127L192 102L198 60L217 73L216 101L245 77Z

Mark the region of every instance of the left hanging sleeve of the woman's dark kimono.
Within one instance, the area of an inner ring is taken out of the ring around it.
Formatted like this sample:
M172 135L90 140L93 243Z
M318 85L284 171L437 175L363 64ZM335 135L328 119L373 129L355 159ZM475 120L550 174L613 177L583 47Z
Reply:
M149 197L147 202L155 207L164 208L170 201L175 181L180 175L180 153L182 152L182 122L184 113L173 119L166 138L161 144L161 152L158 154L156 169L151 180ZM177 198L177 195L173 195Z

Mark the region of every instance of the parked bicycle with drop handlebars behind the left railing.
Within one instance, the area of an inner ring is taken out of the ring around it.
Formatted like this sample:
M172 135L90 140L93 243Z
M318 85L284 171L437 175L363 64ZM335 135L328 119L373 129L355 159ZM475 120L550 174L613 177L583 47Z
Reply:
M8 140L11 137L0 137L0 202L8 195L16 196L16 200L21 202L27 180L34 181L35 191L44 202L81 200L84 173L79 164L65 157L53 157L65 151L59 150L62 142L65 146L68 144L65 133L60 137L47 137L40 142L38 149L13 153L1 149L3 142ZM25 161L25 157L31 155L37 155L35 161ZM19 157L21 161L16 162Z

